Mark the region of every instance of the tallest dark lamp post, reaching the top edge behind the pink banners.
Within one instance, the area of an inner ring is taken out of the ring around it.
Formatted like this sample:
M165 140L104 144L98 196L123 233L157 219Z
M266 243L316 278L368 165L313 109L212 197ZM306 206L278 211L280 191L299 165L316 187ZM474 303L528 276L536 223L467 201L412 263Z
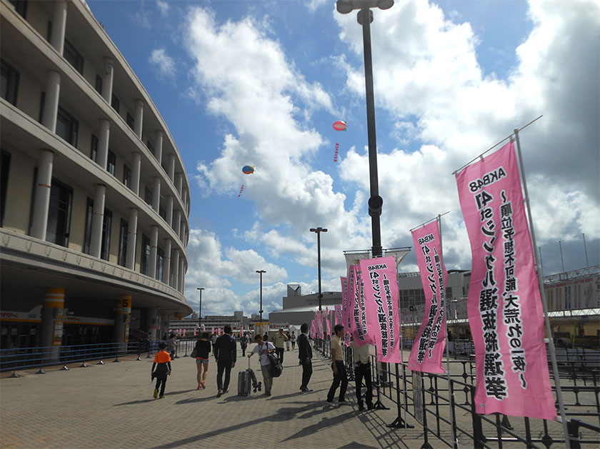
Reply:
M375 98L373 93L373 61L371 58L371 22L373 11L371 8L389 9L394 5L394 0L337 0L337 10L341 14L349 14L359 9L357 19L363 29L364 49L364 85L366 92L366 127L369 138L369 178L371 184L371 197L369 198L369 215L371 216L371 234L373 257L382 254L381 249L381 206L384 200L379 196L379 177L377 174L377 141L375 134Z

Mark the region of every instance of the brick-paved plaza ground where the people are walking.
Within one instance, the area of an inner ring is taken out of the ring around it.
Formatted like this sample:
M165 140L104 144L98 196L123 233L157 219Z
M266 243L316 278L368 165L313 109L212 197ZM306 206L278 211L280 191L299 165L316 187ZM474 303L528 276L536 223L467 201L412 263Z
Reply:
M317 351L314 351L317 354ZM314 358L312 393L299 391L297 350L286 352L284 373L272 396L238 397L237 374L247 360L238 354L229 393L216 398L216 363L211 360L206 390L196 390L196 366L174 360L162 400L152 398L151 359L121 358L105 365L80 363L19 371L0 379L2 448L419 448L422 428L387 428L395 410L359 411L351 383L348 405L331 408L329 362ZM251 366L261 380L258 358ZM391 405L388 403L388 405ZM436 440L434 447L443 447Z

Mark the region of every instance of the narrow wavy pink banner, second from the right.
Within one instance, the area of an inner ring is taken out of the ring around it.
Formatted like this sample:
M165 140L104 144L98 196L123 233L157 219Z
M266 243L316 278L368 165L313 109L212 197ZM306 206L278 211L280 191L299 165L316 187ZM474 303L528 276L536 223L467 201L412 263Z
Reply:
M438 221L415 229L412 236L425 292L425 313L411 349L409 368L424 373L445 373L441 359L446 348L444 312L448 273L441 261Z

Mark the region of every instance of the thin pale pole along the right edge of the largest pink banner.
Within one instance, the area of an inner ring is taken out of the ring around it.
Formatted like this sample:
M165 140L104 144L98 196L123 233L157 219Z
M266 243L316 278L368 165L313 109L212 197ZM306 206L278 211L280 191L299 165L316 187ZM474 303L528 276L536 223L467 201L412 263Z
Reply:
M529 193L527 191L527 181L525 179L525 169L523 166L523 157L521 156L521 143L519 141L519 129L514 130L514 137L516 140L516 151L519 156L519 167L521 168L521 178L523 179L523 190L525 193L525 208L527 210L527 218L529 220L529 228L531 231L531 241L533 247L536 248L536 233L534 230L534 221L531 218L531 208L529 207ZM561 390L561 378L559 376L559 368L556 364L556 351L554 350L554 338L552 338L552 328L550 326L550 320L548 317L548 302L546 300L546 292L544 291L544 279L541 277L541 271L539 270L539 258L537 251L534 251L534 257L536 262L536 272L539 283L539 293L541 295L541 305L544 308L544 322L546 323L546 334L548 335L548 348L550 350L550 359L552 363L552 373L554 375L554 385L556 385L556 398L559 400L559 413L561 415L561 423L563 426L564 433L564 444L566 449L571 449L571 440L569 440L569 429L567 428L566 415L564 413L564 403L562 398Z

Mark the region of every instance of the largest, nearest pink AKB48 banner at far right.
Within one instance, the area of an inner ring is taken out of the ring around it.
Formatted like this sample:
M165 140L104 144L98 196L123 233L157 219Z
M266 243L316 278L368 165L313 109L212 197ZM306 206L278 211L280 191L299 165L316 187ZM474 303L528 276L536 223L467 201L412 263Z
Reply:
M471 241L477 413L554 419L544 310L514 143L456 174Z

